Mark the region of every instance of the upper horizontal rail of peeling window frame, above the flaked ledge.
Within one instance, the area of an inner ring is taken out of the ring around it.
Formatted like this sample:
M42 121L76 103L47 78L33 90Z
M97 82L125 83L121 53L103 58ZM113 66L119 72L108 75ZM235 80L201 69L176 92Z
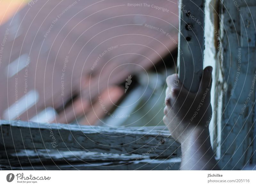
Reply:
M168 130L4 120L0 126L0 147L7 153L12 150L55 149L168 158L176 156L180 147Z

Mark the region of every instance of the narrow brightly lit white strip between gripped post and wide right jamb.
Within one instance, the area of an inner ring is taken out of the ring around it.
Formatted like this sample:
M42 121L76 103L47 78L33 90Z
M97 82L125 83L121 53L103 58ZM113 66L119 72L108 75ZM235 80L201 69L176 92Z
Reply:
M205 21L204 21L204 36L205 36L205 50L204 50L204 68L212 66L212 89L211 89L211 104L212 104L212 120L209 125L211 143L213 151L216 153L216 158L220 158L220 133L221 127L218 123L218 107L220 107L221 100L219 95L222 95L222 88L218 86L221 81L220 61L223 57L222 49L219 48L219 0L205 1ZM221 46L221 45L220 45Z

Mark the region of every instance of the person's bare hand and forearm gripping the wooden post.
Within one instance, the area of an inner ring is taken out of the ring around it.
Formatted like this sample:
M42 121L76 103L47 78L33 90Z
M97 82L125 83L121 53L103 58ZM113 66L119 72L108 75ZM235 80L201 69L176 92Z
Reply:
M181 143L180 170L219 170L211 147L208 124L212 118L212 67L204 69L199 90L189 92L177 74L166 78L163 121Z

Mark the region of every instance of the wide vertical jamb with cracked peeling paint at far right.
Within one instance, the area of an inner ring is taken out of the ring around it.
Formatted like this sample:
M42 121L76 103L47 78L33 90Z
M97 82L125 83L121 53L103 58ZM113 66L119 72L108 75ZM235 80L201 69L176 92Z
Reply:
M255 86L252 92L250 90L256 75L256 1L220 2L223 80L218 87L226 92L218 109L221 126L219 165L222 169L239 170L252 163L255 150Z

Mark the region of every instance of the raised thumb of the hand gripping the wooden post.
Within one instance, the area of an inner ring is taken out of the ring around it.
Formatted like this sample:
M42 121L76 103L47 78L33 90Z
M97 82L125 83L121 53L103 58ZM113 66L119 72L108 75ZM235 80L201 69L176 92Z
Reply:
M204 69L199 86L200 86L199 87L200 93L204 93L206 89L209 89L209 91L211 91L211 88L212 88L212 67L211 66L207 66Z

